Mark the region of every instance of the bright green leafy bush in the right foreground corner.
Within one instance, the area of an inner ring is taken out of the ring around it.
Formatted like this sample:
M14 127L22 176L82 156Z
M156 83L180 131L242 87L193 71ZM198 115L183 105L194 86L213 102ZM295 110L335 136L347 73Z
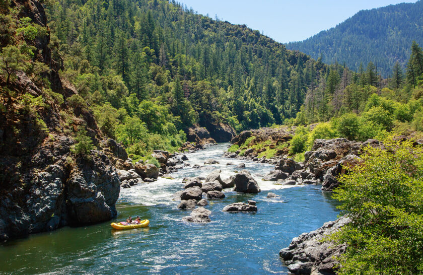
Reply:
M339 274L423 272L423 149L410 141L368 147L333 197L352 222L332 235L346 243Z

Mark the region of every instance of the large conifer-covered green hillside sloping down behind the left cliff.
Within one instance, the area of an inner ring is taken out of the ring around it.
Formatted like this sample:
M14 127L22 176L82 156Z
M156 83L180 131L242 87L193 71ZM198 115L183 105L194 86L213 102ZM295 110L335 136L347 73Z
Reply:
M102 131L127 147L194 123L236 130L282 123L304 103L307 68L313 78L327 71L245 25L174 2L64 0L46 11L61 76L82 97L75 104L87 104ZM147 135L129 139L128 124Z

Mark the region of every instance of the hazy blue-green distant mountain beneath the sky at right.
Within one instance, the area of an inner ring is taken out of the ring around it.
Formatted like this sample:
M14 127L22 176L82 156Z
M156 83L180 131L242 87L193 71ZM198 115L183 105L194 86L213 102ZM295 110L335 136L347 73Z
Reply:
M382 76L392 72L395 61L405 67L412 40L423 44L423 1L360 11L335 28L304 41L290 42L299 50L326 63L345 62L353 70L373 61Z

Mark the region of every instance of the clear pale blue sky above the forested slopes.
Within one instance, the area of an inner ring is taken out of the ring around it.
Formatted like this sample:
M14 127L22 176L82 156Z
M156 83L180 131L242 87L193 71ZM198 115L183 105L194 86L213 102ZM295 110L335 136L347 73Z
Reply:
M179 0L199 14L246 24L282 43L304 40L361 10L410 0Z

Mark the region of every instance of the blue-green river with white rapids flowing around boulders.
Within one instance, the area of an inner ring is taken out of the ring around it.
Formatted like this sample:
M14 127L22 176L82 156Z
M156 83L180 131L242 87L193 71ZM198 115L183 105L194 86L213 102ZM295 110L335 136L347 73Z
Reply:
M186 154L191 166L216 159L220 164L201 169L184 168L175 180L121 189L116 203L118 217L139 215L149 219L145 229L115 231L110 222L30 235L0 246L0 272L4 273L287 273L278 252L291 239L315 230L339 213L336 201L320 186L282 186L262 181L272 165L223 158L228 144ZM222 178L235 174L244 162L256 178L261 193L237 194L211 200L211 223L182 222L190 210L179 210L172 194L182 190L184 177L206 176L222 169ZM255 176L257 175L257 176ZM267 198L271 191L277 195ZM232 202L257 201L257 213L225 213Z

